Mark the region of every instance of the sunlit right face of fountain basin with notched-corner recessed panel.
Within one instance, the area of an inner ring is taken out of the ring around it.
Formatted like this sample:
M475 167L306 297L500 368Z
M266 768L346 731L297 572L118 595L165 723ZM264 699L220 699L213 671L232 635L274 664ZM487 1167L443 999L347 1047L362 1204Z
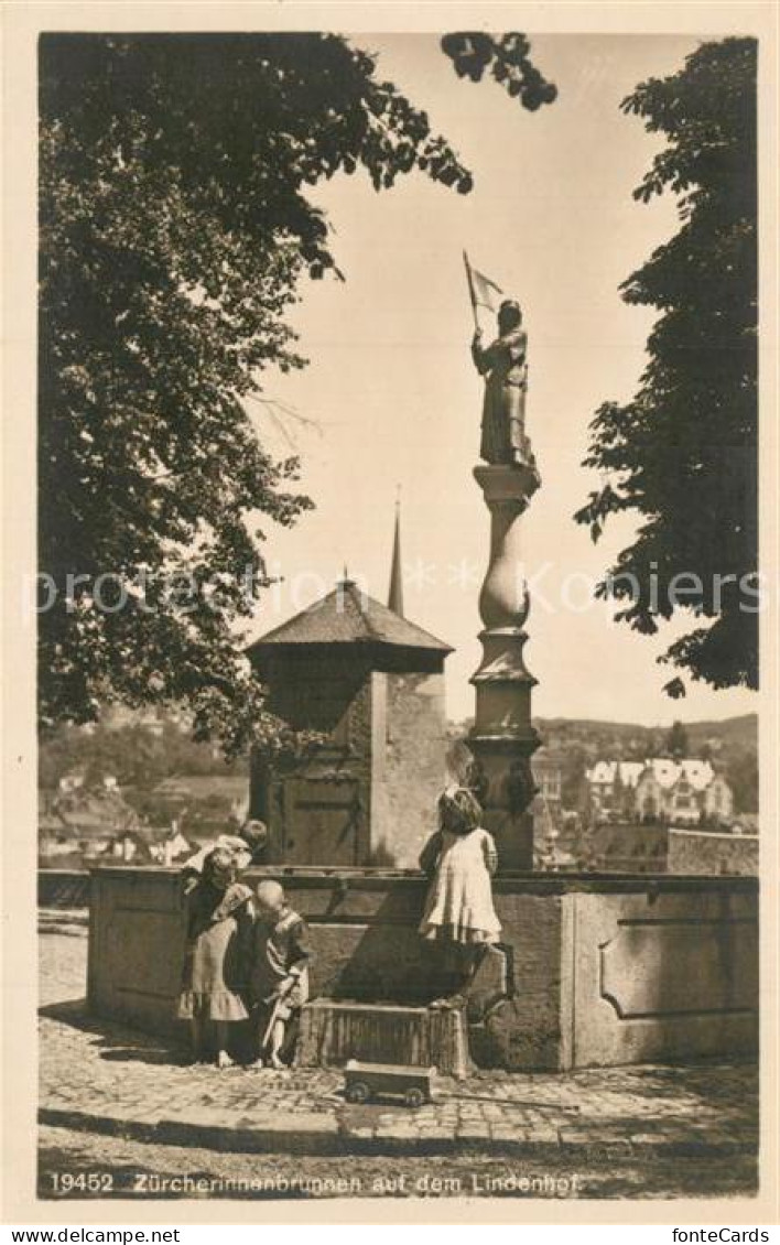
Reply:
M576 896L575 1067L756 1050L755 883L685 881Z

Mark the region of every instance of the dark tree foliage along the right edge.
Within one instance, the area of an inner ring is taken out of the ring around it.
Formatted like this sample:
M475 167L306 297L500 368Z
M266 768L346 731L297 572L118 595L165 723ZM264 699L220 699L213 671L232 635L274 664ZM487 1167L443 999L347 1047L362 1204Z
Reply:
M622 285L661 315L636 397L591 425L585 464L603 483L576 514L596 540L611 515L638 512L600 595L646 634L690 609L699 625L659 660L714 687L758 684L755 90L755 41L727 39L623 101L667 138L634 198L672 190L682 224Z

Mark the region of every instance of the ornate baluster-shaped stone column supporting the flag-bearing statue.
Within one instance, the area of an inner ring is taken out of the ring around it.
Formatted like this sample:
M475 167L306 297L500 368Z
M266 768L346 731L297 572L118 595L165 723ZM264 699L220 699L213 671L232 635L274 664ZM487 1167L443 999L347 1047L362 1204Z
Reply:
M539 736L531 726L536 680L522 657L529 594L521 571L520 518L540 478L532 466L488 464L475 467L474 478L490 510L490 563L479 596L483 660L471 676L476 711L468 743L485 829L496 840L499 872L531 869L534 822L526 809L536 793L530 758Z

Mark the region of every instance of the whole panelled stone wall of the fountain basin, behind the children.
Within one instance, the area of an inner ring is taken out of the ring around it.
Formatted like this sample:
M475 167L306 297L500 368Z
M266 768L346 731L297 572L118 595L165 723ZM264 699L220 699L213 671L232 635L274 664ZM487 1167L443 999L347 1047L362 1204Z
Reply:
M434 952L417 935L419 874L279 869L248 880L267 875L311 925L313 995L424 1003L438 992ZM561 1071L755 1051L754 879L510 875L495 903L508 981L473 1030L478 1062ZM178 1032L183 946L174 870L93 873L95 1011Z

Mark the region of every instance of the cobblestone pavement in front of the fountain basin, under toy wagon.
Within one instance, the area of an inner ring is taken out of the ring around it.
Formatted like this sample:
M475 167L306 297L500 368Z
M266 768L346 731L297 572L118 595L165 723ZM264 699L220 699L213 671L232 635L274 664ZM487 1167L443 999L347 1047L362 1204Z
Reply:
M724 1172L736 1164L743 1191L754 1179L753 1064L485 1072L463 1082L442 1078L435 1102L418 1111L391 1102L355 1107L336 1072L192 1067L160 1040L90 1017L83 918L44 914L41 929L40 1119L50 1143L68 1137L73 1147L73 1138L90 1134L168 1154L301 1155L306 1172L317 1158L346 1154L369 1167L382 1155L489 1155L505 1160L504 1172L509 1159L532 1159L559 1173L687 1157L707 1159L710 1178L713 1162Z

